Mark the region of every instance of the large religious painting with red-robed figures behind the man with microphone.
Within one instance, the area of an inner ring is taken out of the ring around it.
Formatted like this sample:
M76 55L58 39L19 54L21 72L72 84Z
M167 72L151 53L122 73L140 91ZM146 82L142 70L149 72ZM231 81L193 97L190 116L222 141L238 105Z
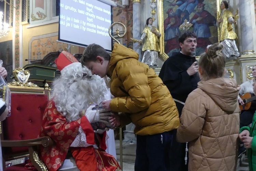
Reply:
M219 10L219 0L158 0L158 5L162 5L163 32L162 47L163 53L170 57L173 52L180 52L178 38L182 32L186 31L180 26L187 22L191 26L188 31L197 34L196 55L201 55L206 47L218 42L218 28L216 26ZM162 4L161 4L162 3ZM160 43L161 46L161 43Z

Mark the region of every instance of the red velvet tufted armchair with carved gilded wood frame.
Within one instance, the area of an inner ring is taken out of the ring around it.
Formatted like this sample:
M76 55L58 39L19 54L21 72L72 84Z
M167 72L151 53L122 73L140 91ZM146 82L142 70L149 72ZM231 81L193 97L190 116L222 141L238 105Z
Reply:
M49 89L39 87L9 86L11 95L11 116L1 122L1 144L3 167L5 161L29 156L37 170L47 168L38 158L39 145L52 144L49 137L37 139L43 113L49 100ZM4 171L26 170L25 163L4 168Z

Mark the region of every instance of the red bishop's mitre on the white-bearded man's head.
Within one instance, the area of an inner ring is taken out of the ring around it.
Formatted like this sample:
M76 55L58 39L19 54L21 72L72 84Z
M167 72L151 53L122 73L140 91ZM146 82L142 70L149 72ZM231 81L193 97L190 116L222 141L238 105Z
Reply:
M73 55L66 51L62 51L58 58L55 59L55 63L57 68L61 71L63 68L68 66L71 63L79 62Z

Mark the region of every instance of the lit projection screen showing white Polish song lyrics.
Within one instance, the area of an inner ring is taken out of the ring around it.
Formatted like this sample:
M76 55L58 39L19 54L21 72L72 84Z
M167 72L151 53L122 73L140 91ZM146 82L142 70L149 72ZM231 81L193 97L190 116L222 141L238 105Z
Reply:
M84 47L96 43L111 52L111 24L112 6L109 4L98 0L60 0L60 42Z

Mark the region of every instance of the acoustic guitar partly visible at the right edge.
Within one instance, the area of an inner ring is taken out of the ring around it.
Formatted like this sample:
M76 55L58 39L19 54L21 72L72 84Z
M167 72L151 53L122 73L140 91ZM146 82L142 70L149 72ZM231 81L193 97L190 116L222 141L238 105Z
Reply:
M246 92L243 96L240 95L241 99L244 101L244 105L239 105L240 110L256 109L256 96L253 93Z

